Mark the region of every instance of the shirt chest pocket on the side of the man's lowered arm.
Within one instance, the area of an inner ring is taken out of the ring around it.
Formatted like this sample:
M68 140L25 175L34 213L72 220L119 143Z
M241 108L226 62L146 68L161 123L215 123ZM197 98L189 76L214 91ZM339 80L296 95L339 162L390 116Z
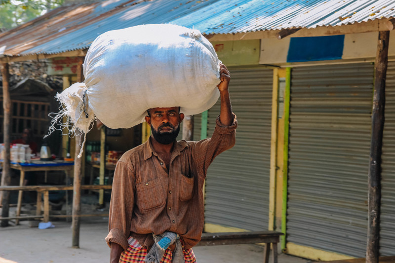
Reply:
M142 212L146 212L158 207L162 207L166 203L165 182L160 179L154 179L136 185L136 205Z

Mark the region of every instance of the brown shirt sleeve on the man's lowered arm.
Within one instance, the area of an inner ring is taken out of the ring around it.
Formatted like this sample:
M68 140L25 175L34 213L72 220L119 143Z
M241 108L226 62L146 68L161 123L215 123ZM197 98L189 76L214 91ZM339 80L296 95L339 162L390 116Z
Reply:
M109 212L109 233L106 242L119 244L124 250L129 247L127 239L134 208L135 176L127 164L118 161L114 171Z

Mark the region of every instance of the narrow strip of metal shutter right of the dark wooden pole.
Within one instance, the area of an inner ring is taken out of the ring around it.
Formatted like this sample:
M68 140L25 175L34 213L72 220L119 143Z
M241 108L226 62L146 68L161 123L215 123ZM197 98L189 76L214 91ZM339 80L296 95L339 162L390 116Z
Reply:
M395 62L388 63L381 164L380 254L395 255Z

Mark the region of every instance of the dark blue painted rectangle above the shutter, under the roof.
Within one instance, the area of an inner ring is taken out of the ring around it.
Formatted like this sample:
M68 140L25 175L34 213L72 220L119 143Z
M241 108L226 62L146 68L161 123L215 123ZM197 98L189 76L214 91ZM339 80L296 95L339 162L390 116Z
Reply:
M287 62L342 59L344 35L291 38Z

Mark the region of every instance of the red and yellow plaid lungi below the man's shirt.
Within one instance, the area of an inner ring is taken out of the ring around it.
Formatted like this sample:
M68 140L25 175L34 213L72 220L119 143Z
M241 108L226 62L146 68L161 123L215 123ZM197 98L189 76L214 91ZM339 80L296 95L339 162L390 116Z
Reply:
M129 247L126 251L123 251L119 258L119 263L145 263L145 257L147 256L147 249L140 245L132 237L129 237ZM185 250L182 246L182 252L184 253L185 263L196 263L195 254L192 248ZM171 263L172 253L170 248L166 249L163 258L160 263Z

